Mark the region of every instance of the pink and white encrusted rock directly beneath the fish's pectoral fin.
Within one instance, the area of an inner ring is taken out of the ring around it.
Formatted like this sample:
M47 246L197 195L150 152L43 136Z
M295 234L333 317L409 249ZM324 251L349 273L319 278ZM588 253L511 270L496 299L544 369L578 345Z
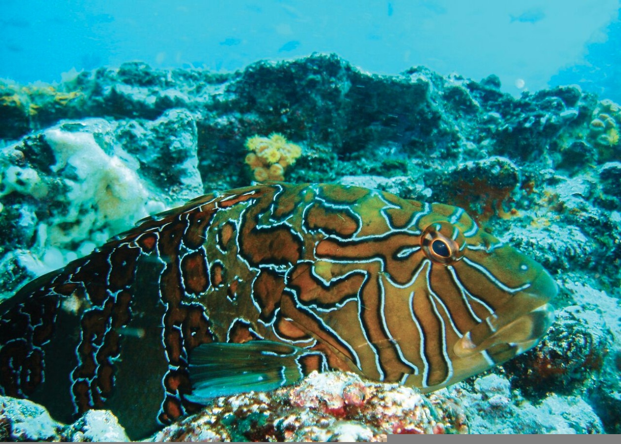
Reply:
M349 373L314 373L294 387L216 399L199 414L157 433L155 441L348 442L388 434L465 433L455 400L433 401L397 384Z

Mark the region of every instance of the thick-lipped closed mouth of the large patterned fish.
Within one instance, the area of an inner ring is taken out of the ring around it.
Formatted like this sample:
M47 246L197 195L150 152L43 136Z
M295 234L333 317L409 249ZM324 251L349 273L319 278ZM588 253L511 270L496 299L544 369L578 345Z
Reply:
M527 289L463 335L453 347L455 355L467 358L486 352L486 358L501 363L535 347L554 322L554 307L548 301L557 291L550 274L542 270Z

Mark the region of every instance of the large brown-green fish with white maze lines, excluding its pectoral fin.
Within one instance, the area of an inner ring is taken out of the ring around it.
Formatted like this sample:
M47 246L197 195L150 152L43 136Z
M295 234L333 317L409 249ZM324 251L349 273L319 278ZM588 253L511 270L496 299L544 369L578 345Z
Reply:
M432 391L533 347L555 293L458 207L262 184L156 215L24 286L0 306L0 388L66 422L111 409L145 436L201 407L193 350L267 340L307 349L302 373Z

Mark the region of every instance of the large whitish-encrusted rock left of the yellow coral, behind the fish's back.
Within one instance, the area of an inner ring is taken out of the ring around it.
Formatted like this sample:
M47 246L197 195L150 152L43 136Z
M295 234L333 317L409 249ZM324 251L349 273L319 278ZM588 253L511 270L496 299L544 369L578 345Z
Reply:
M202 194L197 165L196 125L185 110L153 123L65 122L0 148L0 225L18 241L3 270L55 270L136 220Z

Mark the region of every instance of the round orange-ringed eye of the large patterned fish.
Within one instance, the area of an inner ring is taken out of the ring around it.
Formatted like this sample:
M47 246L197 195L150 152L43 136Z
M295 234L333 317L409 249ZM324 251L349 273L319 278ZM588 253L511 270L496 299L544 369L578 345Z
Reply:
M435 222L424 230L420 247L433 262L450 265L461 259L464 242L463 234L455 225Z

